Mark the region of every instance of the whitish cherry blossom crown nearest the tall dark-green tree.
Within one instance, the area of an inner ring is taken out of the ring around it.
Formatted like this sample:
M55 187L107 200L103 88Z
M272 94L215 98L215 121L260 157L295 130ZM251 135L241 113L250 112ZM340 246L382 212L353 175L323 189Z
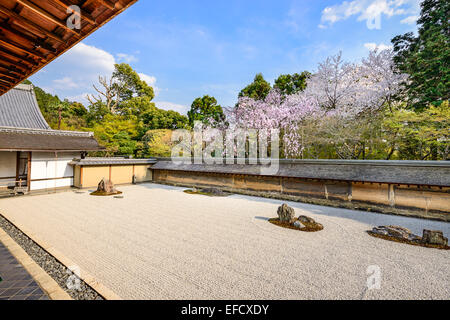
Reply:
M305 94L329 111L354 118L391 104L407 76L399 73L392 50L370 52L361 63L348 63L342 53L319 64Z

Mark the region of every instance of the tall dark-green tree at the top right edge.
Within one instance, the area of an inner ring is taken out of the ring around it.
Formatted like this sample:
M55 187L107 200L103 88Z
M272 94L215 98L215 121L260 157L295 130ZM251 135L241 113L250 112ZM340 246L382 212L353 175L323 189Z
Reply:
M418 20L418 36L407 33L392 39L395 62L409 74L408 104L422 111L450 98L450 2L425 0Z

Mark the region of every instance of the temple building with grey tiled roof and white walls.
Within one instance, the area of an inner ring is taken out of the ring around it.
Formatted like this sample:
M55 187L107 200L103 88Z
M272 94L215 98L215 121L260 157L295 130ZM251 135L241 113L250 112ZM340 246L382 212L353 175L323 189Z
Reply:
M0 192L71 187L69 164L99 150L91 132L51 130L32 85L20 84L0 96Z

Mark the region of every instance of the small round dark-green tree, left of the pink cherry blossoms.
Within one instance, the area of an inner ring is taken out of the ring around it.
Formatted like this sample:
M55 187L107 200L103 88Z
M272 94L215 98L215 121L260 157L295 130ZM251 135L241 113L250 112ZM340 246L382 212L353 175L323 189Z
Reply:
M222 107L217 104L216 98L210 96L195 99L188 112L188 117L191 127L194 127L195 121L213 125L214 122L225 119Z

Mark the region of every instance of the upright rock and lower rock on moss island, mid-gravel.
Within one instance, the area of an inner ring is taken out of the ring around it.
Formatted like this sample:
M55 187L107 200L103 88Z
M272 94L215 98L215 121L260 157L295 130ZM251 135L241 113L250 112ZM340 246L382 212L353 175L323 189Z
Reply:
M295 210L287 204L278 208L278 218L270 219L270 223L288 229L294 229L304 232L317 232L324 229L323 225L307 216L296 218Z

